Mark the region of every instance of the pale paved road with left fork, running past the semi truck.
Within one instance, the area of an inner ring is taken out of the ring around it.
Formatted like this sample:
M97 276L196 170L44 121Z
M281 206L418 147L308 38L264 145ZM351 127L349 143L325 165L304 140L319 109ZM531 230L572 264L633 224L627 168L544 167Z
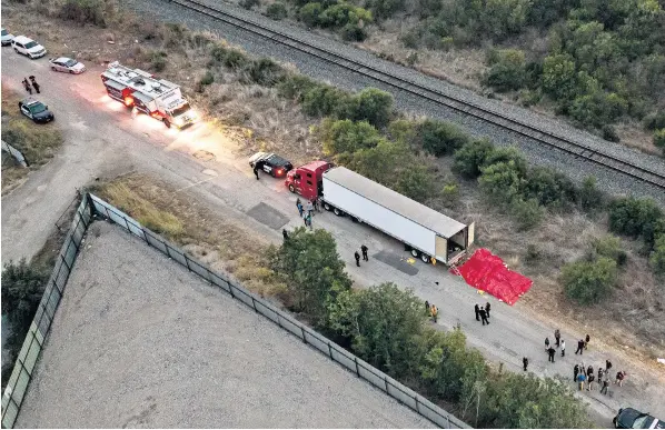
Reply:
M131 119L119 103L105 96L98 74L101 70L95 64L88 64L89 71L83 76L71 77L53 74L47 69L46 60L30 61L13 54L3 60L2 79L17 91L21 90L23 76L36 74L43 82L42 99L56 113L66 137L64 146L53 161L2 198L3 262L21 256L30 258L41 248L51 231L50 226L71 201L77 187L95 177L127 171L162 178L181 192L192 193L207 207L241 220L257 234L276 243L281 240L284 222L286 228L301 223L295 208L296 197L282 187L282 182L270 178L254 179L246 160L234 156L235 144L207 124L178 132L143 116ZM204 162L192 157L199 150L214 153L215 160ZM459 323L472 346L489 360L504 362L509 370L520 371L522 357L527 356L532 363L529 370L535 373L572 378L572 368L579 360L573 354L575 339L584 333L562 327L568 354L563 360L557 357L554 364L548 364L543 340L554 328L529 314L519 302L508 307L490 299L492 324L482 327L475 321L473 307L486 298L440 266L419 262L410 266L400 261L407 256L399 243L346 218L317 214L314 226L335 236L341 257L349 262L348 271L359 284L394 281L413 289L423 300L438 306L441 328ZM356 268L353 250L361 243L369 247L370 261ZM661 401L665 397L665 381L627 367L627 358L621 351L599 351L597 342L592 342L584 362L597 368L606 358L614 362L615 369L626 368L631 376L627 383L613 389L609 397L598 396L597 391L590 396L583 393L597 414L598 423L608 426L615 410L624 406L665 417L665 404Z

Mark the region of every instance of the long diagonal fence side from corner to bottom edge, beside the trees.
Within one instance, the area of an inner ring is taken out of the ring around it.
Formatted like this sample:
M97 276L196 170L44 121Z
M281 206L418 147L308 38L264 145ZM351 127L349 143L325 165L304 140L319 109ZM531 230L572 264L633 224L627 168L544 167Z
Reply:
M425 399L410 388L396 381L371 364L363 361L355 354L348 352L322 334L317 333L286 312L275 308L268 301L261 299L242 287L236 286L234 281L228 279L228 277L214 272L206 264L188 256L179 248L160 238L152 231L143 228L138 221L128 214L121 212L96 196L90 194L90 199L95 212L105 216L107 219L125 228L131 234L146 241L146 243L149 246L178 261L189 271L195 272L211 284L221 288L224 291L231 294L232 298L247 304L257 313L268 318L282 329L287 330L289 333L296 336L305 343L314 347L316 350L330 358L332 361L344 366L347 370L354 372L358 378L366 380L374 387L386 392L391 398L398 400L400 403L404 403L410 409L415 410L421 417L444 429L470 428L468 424L446 412L429 400Z

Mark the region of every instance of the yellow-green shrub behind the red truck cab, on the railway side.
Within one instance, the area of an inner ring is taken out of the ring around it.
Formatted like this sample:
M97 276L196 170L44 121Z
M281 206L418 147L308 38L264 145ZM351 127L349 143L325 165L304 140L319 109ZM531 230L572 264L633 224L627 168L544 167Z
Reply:
M327 118L320 127L324 152L328 156L355 152L363 148L376 147L380 134L367 121L332 120Z

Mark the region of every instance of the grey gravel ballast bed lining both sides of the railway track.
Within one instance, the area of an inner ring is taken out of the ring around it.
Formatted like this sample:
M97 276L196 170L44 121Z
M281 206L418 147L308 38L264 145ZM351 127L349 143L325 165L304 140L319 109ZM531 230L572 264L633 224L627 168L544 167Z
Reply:
M477 106L500 111L504 114L508 114L513 118L519 119L520 121L528 122L532 126L538 127L543 130L575 139L576 141L586 143L590 148L622 157L623 159L627 159L633 162L639 162L641 166L645 166L655 171L665 173L665 161L663 159L631 150L617 143L605 141L587 132L577 130L564 123L563 121L552 120L527 109L479 97L472 91L455 87L435 78L427 77L413 69L380 60L366 51L355 49L348 44L317 36L312 32L281 21L272 21L266 17L246 11L222 1L202 1L210 6L222 8L225 11L232 12L234 14L248 18L254 22L260 23L261 26L267 26L281 32L288 32L294 37L307 40L337 53L341 53L353 58L354 60L370 63L375 68L389 71L394 74L399 74L410 81L427 86L446 94L464 98L465 100L468 100ZM248 52L259 56L269 56L284 62L290 62L305 74L319 80L328 81L343 88L359 90L366 87L378 87L385 89L394 93L397 107L404 111L457 122L474 136L489 137L498 144L517 144L524 150L526 157L532 162L543 166L550 166L565 172L574 180L583 180L587 176L595 176L598 179L598 184L612 193L649 196L655 198L661 204L665 206L665 193L663 193L662 190L656 190L653 187L647 187L642 182L628 179L623 174L607 171L598 166L590 164L582 160L576 160L558 151L544 148L530 139L514 134L485 122L460 116L454 111L450 111L449 109L434 104L427 100L423 100L414 94L406 93L404 91L396 91L390 87L384 87L379 82L367 77L349 72L348 70L341 69L330 63L320 63L315 58L306 56L302 52L277 44L270 40L261 39L255 34L248 33L247 31L225 24L224 22L215 21L200 13L183 9L178 4L173 4L165 0L128 0L123 2L123 4L139 13L149 13L151 19L158 19L168 22L180 22L191 29L211 31L227 39L231 43L242 46Z

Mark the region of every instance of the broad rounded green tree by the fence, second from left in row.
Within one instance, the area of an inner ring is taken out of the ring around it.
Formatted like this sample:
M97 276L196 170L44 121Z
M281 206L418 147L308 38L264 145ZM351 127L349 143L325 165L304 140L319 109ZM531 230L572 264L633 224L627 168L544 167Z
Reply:
M394 283L346 291L330 304L329 328L350 340L361 359L391 374L417 363L423 301Z

